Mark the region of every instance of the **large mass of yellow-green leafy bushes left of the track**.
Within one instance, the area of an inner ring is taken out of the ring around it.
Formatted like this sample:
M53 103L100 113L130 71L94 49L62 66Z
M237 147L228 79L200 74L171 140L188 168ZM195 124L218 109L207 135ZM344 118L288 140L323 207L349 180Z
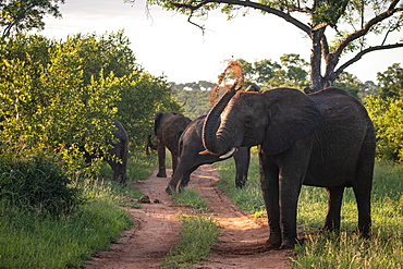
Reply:
M107 156L105 137L118 118L131 148L145 146L155 112L180 107L164 78L143 71L129 46L123 30L65 41L15 35L1 50L3 143L46 144L74 158L83 148Z

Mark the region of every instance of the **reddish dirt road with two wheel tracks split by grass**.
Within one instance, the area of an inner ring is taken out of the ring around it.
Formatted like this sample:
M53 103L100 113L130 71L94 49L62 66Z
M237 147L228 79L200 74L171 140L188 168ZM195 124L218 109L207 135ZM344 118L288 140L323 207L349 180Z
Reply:
M172 204L164 192L170 178L157 178L156 172L148 180L137 183L139 191L149 196L151 204L143 204L142 209L130 209L135 225L125 231L119 243L111 245L110 250L100 252L87 261L85 268L150 269L163 264L179 241L182 224L176 213L191 212L192 209ZM264 249L268 236L266 219L257 220L241 212L217 188L219 172L211 166L202 166L191 178L188 187L208 204L221 229L220 242L213 246L208 260L194 268L291 268L286 250Z

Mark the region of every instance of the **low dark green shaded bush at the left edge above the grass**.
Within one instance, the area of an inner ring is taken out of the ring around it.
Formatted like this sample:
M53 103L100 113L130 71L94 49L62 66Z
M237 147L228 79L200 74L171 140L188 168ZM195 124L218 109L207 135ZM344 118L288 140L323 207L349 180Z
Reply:
M60 158L41 151L0 156L0 200L41 215L70 212L81 203L78 189L69 187Z

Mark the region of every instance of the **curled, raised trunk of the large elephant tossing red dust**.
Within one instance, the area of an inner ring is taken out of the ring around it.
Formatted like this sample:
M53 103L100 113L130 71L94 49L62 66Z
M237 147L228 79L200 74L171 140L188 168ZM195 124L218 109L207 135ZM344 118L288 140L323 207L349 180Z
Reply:
M225 109L228 102L234 95L235 88L231 88L207 114L205 124L203 125L203 144L207 149L205 154L222 155L227 152L225 137L218 135L217 131L220 125L221 112Z

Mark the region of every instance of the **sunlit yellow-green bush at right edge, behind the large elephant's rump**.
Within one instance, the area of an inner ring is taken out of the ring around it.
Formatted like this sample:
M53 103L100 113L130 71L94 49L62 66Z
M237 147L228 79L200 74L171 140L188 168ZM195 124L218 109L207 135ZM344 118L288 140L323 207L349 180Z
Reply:
M377 133L377 156L403 161L403 99L369 96L365 107Z

